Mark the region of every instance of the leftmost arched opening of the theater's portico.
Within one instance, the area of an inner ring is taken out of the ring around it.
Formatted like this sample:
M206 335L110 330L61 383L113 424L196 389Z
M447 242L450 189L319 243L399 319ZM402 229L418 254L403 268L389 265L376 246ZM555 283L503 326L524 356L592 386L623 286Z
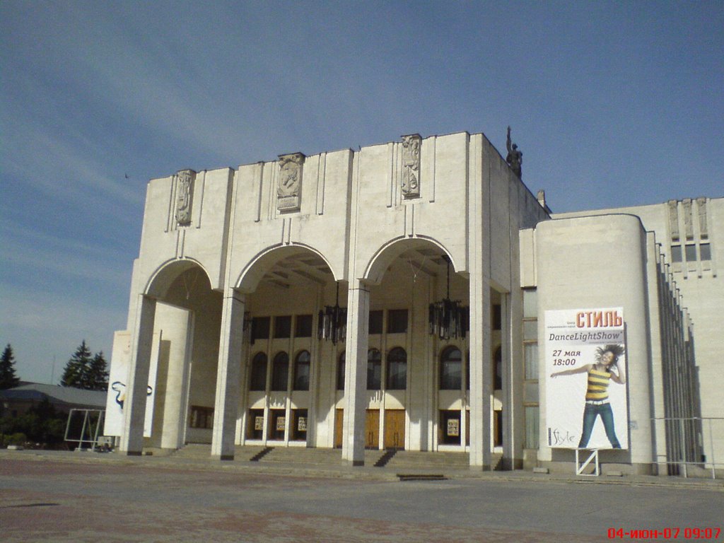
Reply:
M210 443L221 293L211 289L201 264L185 259L161 266L138 304L130 336L132 379L121 415L122 450L136 454L143 446Z

